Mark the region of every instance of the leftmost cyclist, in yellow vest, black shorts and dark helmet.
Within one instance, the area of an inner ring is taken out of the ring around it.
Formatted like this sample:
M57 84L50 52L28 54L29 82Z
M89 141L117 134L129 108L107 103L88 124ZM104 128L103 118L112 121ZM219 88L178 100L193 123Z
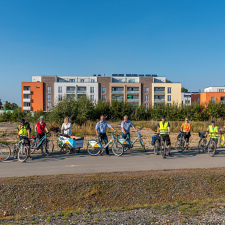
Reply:
M25 121L25 119L20 119L20 125L17 127L18 138L20 140L24 139L24 144L28 148L28 160L32 160L30 156L30 124Z

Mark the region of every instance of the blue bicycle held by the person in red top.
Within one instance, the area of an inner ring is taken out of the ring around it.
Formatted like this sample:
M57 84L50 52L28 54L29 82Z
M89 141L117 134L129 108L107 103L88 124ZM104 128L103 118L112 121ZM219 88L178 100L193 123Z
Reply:
M31 154L34 154L36 150L41 149L41 152L43 155L51 154L54 150L54 144L51 140L47 139L47 135L50 135L50 133L46 133L40 140L37 141L37 137L30 138L30 148L31 148ZM43 148L45 148L45 152L43 151Z

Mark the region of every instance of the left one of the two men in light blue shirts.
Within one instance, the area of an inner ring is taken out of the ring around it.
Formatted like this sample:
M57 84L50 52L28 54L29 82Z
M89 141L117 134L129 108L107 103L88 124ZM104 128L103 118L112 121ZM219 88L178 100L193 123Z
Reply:
M99 142L102 143L102 141L104 141L105 145L108 143L108 138L106 135L107 127L111 128L113 131L116 131L108 122L105 121L105 117L103 115L100 116L100 121L96 124L95 131L98 135ZM108 147L106 148L106 154L110 155Z

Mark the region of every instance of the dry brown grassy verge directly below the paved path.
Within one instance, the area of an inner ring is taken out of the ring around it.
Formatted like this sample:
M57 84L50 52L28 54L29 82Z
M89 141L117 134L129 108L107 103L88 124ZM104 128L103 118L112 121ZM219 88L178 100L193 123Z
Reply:
M9 216L58 212L65 219L138 208L195 215L214 199L224 205L224 178L224 168L0 178L0 208Z

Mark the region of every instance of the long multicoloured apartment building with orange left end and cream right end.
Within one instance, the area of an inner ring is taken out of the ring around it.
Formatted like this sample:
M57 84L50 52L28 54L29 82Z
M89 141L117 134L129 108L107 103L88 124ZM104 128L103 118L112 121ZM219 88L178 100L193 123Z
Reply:
M63 98L79 99L84 96L93 102L124 101L133 105L144 104L146 108L155 102L180 103L181 97L178 101L181 93L180 84L170 83L168 86L165 81L166 77L158 77L154 74L33 76L32 82L22 82L22 107L24 111L48 111ZM173 90L172 93L167 86ZM153 91L154 88L164 90L165 101L160 101L163 94L156 95L157 91ZM26 89L30 90L30 94L24 94ZM157 96L159 96L158 101L155 101Z

